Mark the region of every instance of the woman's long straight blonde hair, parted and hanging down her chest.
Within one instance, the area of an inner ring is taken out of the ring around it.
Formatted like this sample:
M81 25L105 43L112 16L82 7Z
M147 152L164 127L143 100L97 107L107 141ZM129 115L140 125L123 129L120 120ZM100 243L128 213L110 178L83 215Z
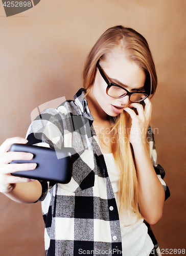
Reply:
M91 49L83 71L83 86L87 95L90 92L96 75L98 60L104 60L107 53L122 46L128 58L141 67L146 74L145 90L154 95L157 87L157 76L153 58L146 39L131 28L115 26L107 29ZM138 206L138 189L135 161L129 141L131 118L126 112L114 118L111 126L111 150L119 168L119 200L120 212L125 209L135 212L137 218L142 218ZM147 140L146 140L147 141Z

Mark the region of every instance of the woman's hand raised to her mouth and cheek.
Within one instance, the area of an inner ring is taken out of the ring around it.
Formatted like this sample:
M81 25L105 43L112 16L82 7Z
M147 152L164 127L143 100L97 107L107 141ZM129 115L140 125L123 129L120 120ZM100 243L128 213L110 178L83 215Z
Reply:
M139 103L131 103L128 108L124 108L132 119L130 143L133 147L135 145L146 143L146 135L151 120L152 103L148 98L146 98L144 102L145 108L143 108L143 106ZM135 108L138 115L136 115L131 108Z

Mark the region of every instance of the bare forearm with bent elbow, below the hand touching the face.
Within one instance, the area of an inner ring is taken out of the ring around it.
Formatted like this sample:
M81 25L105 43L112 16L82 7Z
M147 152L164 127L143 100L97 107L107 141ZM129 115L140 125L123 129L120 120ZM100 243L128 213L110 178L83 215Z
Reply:
M155 173L147 144L133 146L133 150L137 170L139 207L147 222L153 225L162 216L165 191Z

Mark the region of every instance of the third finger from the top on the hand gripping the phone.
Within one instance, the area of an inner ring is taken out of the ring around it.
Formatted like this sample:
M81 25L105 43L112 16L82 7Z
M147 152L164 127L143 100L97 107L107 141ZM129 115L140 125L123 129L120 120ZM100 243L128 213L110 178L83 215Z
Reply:
M2 167L2 173L10 174L19 172L22 170L33 170L37 166L36 163L12 163L12 164L5 164Z

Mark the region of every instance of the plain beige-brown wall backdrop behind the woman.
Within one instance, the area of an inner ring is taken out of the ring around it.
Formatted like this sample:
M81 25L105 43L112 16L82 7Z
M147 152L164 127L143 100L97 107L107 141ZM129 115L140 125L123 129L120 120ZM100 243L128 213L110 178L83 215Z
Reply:
M0 3L0 143L25 137L40 104L74 96L85 57L107 28L132 27L148 40L158 75L152 125L171 191L152 226L163 249L185 248L185 10L185 0L41 0L6 17ZM40 203L19 204L3 194L0 200L0 255L43 256Z

